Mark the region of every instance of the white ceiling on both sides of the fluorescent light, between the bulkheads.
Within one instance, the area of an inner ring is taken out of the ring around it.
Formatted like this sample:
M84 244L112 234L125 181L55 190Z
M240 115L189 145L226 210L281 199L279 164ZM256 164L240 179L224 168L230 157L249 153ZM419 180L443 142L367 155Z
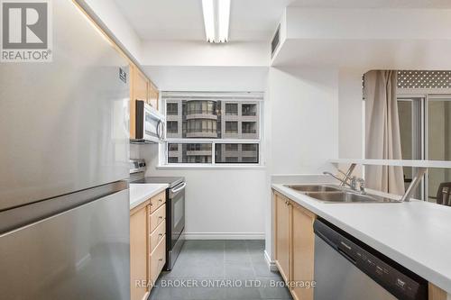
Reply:
M232 0L230 41L269 41L292 0ZM201 0L115 0L142 40L204 41Z

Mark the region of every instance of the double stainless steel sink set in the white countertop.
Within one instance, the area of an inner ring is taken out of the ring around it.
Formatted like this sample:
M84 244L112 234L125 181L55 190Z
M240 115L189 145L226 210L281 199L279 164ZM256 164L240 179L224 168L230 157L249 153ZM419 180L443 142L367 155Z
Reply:
M399 203L400 201L379 195L354 192L333 185L286 185L291 189L325 203Z

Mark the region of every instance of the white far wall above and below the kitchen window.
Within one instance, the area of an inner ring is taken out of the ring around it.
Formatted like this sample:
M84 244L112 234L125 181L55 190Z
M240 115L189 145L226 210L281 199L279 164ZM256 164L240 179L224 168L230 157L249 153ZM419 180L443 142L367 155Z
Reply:
M147 67L161 90L264 91L268 68ZM158 169L155 145L132 147L146 159L147 176L183 176L187 181L189 239L264 239L266 169Z

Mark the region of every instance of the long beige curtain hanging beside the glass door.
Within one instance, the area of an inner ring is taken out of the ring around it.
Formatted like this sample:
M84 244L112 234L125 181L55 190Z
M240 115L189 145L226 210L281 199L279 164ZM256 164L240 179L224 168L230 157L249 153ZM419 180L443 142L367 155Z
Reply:
M396 86L397 71L375 70L364 75L366 159L402 159ZM369 188L404 194L401 167L366 167L365 179Z

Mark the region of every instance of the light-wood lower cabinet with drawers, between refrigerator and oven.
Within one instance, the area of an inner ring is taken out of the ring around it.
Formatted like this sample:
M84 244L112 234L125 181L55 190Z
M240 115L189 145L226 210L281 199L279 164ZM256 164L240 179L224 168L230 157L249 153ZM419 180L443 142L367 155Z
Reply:
M144 300L166 263L166 199L155 195L130 212L130 299Z

